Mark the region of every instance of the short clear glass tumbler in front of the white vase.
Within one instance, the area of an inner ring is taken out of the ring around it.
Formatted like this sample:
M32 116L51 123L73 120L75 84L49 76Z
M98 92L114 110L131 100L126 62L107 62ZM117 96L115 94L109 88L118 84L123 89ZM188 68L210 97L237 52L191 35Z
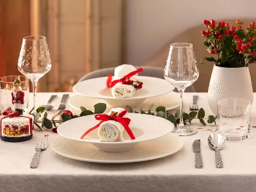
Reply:
M226 140L246 140L250 136L252 102L228 98L218 101L218 131Z

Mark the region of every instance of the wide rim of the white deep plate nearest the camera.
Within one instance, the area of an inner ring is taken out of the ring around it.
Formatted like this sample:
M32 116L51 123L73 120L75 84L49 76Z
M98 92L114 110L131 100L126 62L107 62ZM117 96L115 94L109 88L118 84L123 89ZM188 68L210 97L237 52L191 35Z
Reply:
M145 116L146 114L138 114L138 113L129 113L129 115L143 115L143 116ZM95 116L95 115L88 115L88 116ZM149 115L148 115L149 116ZM70 123L70 122L72 122L72 121L74 121L74 120L77 120L78 118L85 118L86 116L81 116L81 117L77 117L77 118L73 118L73 119L71 119L71 120L68 120L68 122ZM159 116L150 116L150 117L153 117L153 118L161 118L161 117L159 117ZM162 119L162 118L161 118ZM163 119L163 120L165 120L165 121L168 121L168 120L166 120L166 119ZM168 121L169 122L169 121ZM65 122L64 123L62 123L62 124L65 124ZM59 127L60 127L61 125L59 125ZM170 130L168 130L168 132L166 132L166 133L164 133L163 135L161 135L161 136L159 136L159 137L157 137L157 138L150 138L149 140L128 140L128 141L117 141L117 142L104 142L104 145L116 145L116 144L118 144L118 145L126 145L126 144L131 144L131 143L141 143L141 142L143 142L143 141L151 141L151 140L156 140L156 139L159 139L159 138L163 138L163 136L166 136L167 134L170 134L170 132L172 132L173 131L173 129L174 129L174 125L170 122L170 126L172 126L172 128L170 129ZM61 134L58 130L60 130L59 128L57 129L57 132L58 132L58 134L60 134L60 136L62 136L63 138L67 138L67 136L65 136L65 135L63 135L63 134ZM67 138L68 140L74 140L74 141L79 141L79 142L83 142L83 143L94 143L94 144L102 144L102 141L99 141L99 140L96 140L96 141L93 141L93 140L84 140L84 139L74 139L74 138Z

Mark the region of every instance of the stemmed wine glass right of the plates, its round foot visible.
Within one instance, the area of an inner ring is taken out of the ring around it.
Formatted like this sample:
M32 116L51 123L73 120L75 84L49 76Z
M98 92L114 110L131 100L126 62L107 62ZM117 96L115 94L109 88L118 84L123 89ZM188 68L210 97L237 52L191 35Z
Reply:
M164 79L175 86L180 93L180 123L173 129L173 132L179 136L189 136L197 132L184 125L182 96L184 90L193 84L198 76L199 71L196 66L193 45L187 43L171 44L164 68Z

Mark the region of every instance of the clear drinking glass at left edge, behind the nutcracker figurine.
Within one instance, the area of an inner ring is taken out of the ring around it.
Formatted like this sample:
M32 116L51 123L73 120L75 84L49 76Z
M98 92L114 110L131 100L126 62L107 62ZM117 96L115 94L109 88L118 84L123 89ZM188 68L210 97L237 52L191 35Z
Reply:
M18 77L21 83L22 92L24 92L24 106L23 111L28 111L29 101L29 79L25 76L5 76L0 77L0 114L5 109L12 107L12 88L13 81ZM13 108L14 110L14 108Z

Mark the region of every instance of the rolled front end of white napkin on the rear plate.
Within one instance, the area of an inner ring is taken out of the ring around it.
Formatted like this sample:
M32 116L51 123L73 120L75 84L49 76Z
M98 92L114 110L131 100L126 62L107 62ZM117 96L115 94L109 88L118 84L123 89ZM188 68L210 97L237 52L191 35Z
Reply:
M125 98L132 97L136 92L136 89L131 84L116 83L113 88L111 88L112 96L115 98Z

